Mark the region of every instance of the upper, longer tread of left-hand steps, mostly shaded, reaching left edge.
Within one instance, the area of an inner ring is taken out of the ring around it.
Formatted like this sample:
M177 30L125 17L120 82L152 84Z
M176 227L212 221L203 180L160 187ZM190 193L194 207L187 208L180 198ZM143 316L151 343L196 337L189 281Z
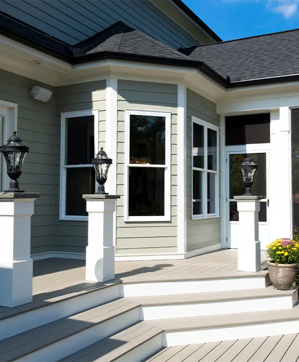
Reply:
M138 307L121 298L9 337L0 341L0 361L15 361Z

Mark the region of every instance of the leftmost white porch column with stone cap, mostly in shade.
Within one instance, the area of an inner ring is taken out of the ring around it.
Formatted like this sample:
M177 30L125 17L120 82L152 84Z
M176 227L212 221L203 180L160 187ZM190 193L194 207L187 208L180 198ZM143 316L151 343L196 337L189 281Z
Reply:
M31 215L37 193L0 193L0 306L32 302Z

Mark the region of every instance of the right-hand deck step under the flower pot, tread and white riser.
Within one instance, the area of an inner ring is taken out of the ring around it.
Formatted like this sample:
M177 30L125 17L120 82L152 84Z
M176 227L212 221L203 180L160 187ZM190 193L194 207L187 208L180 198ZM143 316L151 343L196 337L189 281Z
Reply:
M129 301L142 305L145 321L168 318L209 316L293 308L298 303L297 289L279 291L264 289L132 297Z

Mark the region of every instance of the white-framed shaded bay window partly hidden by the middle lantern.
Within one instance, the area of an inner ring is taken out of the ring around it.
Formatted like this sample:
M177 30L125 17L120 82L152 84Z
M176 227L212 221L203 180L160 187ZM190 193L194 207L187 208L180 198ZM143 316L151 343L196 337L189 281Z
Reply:
M83 194L95 192L91 159L98 148L98 111L61 115L60 219L87 220ZM96 137L95 137L96 135Z

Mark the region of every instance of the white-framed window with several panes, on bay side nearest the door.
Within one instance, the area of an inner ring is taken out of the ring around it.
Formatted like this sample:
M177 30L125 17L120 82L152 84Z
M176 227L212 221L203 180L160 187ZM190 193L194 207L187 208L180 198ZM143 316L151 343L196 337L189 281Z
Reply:
M192 218L218 216L219 128L192 117Z

